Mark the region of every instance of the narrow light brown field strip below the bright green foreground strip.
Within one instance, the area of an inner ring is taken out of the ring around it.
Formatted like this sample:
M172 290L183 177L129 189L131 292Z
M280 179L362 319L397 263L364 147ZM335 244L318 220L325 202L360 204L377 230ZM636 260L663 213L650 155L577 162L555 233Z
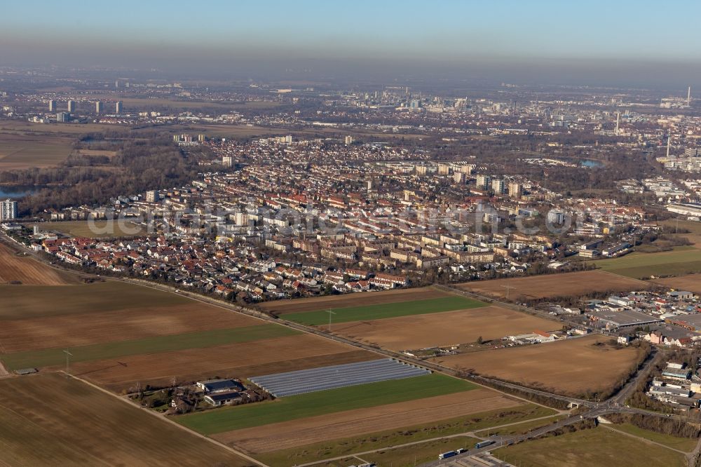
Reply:
M348 410L276 424L219 433L213 438L255 454L348 438L364 433L426 424L437 420L522 405L489 389L475 389L432 398ZM271 442L271 440L275 440Z

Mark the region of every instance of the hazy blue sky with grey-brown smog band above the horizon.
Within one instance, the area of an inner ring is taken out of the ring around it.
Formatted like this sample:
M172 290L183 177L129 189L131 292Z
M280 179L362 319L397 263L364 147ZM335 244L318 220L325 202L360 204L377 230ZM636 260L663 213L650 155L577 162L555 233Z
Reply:
M670 82L701 67L701 1L34 0L2 11L0 65L647 70Z

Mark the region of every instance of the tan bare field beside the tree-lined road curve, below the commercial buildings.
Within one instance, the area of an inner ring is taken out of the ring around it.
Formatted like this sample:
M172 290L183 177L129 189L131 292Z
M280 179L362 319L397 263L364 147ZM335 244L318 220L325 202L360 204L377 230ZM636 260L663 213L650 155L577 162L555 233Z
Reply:
M592 335L432 360L545 391L583 395L587 391L606 391L618 384L640 357L639 348L597 345L604 341L608 338Z

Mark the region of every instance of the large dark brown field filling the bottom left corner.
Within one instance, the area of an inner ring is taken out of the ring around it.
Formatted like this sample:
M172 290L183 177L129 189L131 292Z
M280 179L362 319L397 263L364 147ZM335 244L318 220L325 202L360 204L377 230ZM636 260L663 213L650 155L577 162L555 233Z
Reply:
M251 465L62 374L4 379L0 393L2 465Z

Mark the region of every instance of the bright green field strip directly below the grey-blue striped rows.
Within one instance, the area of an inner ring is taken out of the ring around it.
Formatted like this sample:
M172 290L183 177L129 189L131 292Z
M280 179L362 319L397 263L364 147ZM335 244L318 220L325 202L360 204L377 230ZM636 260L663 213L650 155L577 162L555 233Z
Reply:
M376 407L393 402L470 391L476 387L468 381L447 377L443 374L428 374L421 377L291 395L272 402L182 415L177 417L175 421L198 433L212 435L240 428L332 414L343 410Z

